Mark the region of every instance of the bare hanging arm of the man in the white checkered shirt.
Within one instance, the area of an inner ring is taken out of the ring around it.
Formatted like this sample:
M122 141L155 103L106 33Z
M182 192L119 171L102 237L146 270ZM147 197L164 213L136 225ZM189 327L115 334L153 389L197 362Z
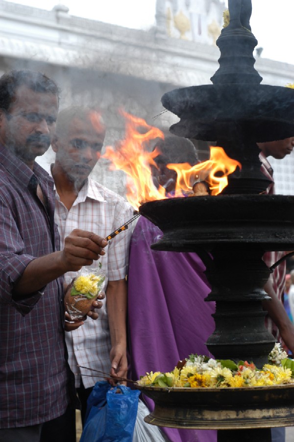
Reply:
M126 309L127 288L125 279L108 281L106 306L111 337L111 372L118 377L126 377Z

